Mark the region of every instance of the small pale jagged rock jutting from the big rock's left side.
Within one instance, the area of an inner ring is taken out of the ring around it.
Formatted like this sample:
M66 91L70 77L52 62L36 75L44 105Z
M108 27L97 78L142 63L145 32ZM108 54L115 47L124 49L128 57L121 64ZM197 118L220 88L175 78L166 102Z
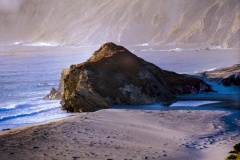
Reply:
M61 72L61 78L59 80L57 90L52 87L50 93L44 97L45 100L61 100L64 88L64 78L69 73L69 68L65 68Z

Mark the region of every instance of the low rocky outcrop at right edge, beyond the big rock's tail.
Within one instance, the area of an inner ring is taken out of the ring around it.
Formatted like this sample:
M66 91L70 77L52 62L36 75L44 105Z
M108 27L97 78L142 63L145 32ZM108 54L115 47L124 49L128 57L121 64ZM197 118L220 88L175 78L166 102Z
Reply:
M197 74L198 76L224 86L240 86L240 64L214 71L206 71Z

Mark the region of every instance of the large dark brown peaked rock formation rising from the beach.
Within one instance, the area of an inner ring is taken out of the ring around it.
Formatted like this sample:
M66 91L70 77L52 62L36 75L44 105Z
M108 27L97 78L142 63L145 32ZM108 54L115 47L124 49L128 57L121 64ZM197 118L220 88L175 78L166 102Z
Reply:
M164 71L113 43L92 57L72 65L64 79L63 109L95 111L110 105L138 105L175 101L174 94L208 91L203 81Z

